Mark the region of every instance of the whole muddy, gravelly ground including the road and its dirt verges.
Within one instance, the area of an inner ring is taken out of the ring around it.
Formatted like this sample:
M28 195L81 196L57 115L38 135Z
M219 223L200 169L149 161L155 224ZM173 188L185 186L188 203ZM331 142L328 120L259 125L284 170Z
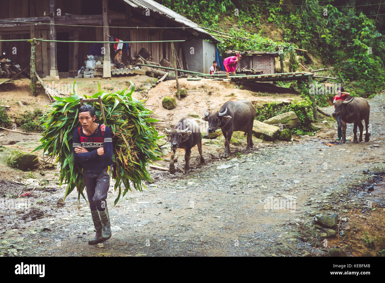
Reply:
M369 101L369 142L353 144L349 125L350 141L323 145L334 140L336 123L320 115L327 123L318 124L322 129L314 137L255 139L254 149L246 151L246 140L239 135L242 143L231 145L228 159L220 157L220 138L206 140L205 164L199 164L193 150L186 175L150 170L155 182L142 193L127 193L115 207L112 183L107 201L113 235L102 247L87 243L94 227L85 200L79 203L73 193L57 205L65 191L56 183L57 170L43 170L42 176L40 170L0 166L0 200L8 208L1 209L0 255L326 256L335 246L349 256L381 255L385 174L372 173L385 170L384 99L380 95ZM331 113L333 107L324 110ZM38 137L1 133L31 143ZM176 168L182 168L184 153L177 154ZM269 205L271 198L280 204ZM338 213L340 241L321 234L323 228L313 220L316 213Z

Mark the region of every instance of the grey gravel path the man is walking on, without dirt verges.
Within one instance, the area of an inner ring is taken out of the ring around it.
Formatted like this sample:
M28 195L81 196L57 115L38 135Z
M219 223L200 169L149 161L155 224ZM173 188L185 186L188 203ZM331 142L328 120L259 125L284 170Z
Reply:
M107 200L114 231L103 247L87 243L94 236L87 203L79 204L74 194L57 208L57 199L64 195L63 189L58 190L44 207L45 217L14 220L18 221L15 229L7 225L0 230L0 243L13 243L15 253L2 252L8 256L326 255L330 247L323 247L311 232L314 211L343 215L349 212L347 201L385 203L383 188L355 195L348 190L369 178L363 169L384 170L384 98L369 101L373 130L368 143L350 140L327 146L321 143L325 139L302 139L259 143L254 151L228 160L205 156L206 164L187 175L153 171L155 183L143 193L127 193L114 208L117 192L111 188ZM331 113L333 108L325 111ZM350 124L346 136L352 135Z

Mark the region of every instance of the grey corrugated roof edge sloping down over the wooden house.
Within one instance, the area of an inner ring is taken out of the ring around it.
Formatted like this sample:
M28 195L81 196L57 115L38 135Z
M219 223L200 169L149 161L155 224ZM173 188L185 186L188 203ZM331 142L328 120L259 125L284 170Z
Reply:
M152 10L152 12L159 13L175 22L181 23L183 25L186 25L187 27L191 27L197 32L204 33L211 37L216 42L220 42L220 40L216 37L213 37L210 33L206 32L203 28L200 28L199 25L192 22L188 18L183 17L182 15L179 15L178 13L174 12L173 10L153 1L153 0L123 0L127 4L131 5L134 8L143 8L147 9L149 8Z

